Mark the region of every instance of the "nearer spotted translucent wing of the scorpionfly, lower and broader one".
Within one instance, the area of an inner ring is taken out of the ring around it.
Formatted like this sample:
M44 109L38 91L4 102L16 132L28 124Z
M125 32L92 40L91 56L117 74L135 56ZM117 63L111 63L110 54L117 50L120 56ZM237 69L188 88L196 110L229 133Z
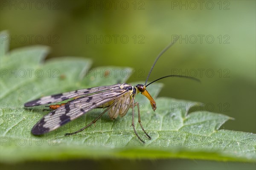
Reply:
M87 113L88 111L99 108L103 104L113 101L128 93L128 90L122 88L108 89L90 96L83 96L67 103L64 106L48 113L32 128L32 133L40 135L55 130L58 127L70 122L73 119Z

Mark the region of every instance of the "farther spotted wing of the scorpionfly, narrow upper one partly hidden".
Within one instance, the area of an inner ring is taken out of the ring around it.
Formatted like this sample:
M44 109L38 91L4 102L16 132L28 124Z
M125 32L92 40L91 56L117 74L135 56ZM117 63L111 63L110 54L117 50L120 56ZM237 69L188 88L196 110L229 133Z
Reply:
M81 90L76 90L76 91L70 91L66 93L61 93L61 94L54 94L50 96L44 96L39 99L32 100L30 102L26 102L24 104L25 107L33 107L33 106L38 106L38 105L47 105L51 103L57 103L61 102L67 99L72 99L75 97L80 97L80 96L89 96L93 95L96 93L101 93L103 91L115 91L120 87L120 84L117 85L109 85L109 86L99 86L95 88L86 88L86 89L81 89Z

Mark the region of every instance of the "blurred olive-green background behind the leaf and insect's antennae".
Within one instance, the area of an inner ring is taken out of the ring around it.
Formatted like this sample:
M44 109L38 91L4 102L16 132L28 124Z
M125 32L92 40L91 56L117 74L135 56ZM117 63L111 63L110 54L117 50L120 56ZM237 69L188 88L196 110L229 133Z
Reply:
M160 96L203 102L198 110L235 118L222 128L256 133L256 1L1 0L0 5L0 30L9 30L11 49L42 44L52 49L48 58L80 56L92 59L93 67L129 66L136 74L128 82L145 81L157 54L179 37L149 82L182 72L202 83L163 79ZM163 169L179 169L184 162L166 160ZM234 163L188 164L240 168Z

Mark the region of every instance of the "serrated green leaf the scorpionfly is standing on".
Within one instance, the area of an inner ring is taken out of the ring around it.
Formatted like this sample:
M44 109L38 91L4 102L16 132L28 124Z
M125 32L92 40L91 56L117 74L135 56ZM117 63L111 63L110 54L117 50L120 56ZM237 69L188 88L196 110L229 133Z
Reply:
M145 144L137 139L131 127L131 111L114 121L106 113L95 126L73 136L64 136L93 121L102 112L95 109L57 130L34 136L30 132L32 127L48 112L24 110L24 102L64 91L126 82L132 74L131 68L109 66L90 69L90 59L79 57L44 62L49 53L48 47L32 46L7 53L8 42L3 42L0 56L1 162L81 158L187 158L249 162L256 159L255 134L219 130L224 122L231 119L222 114L207 111L188 114L198 102L157 98L162 87L159 83L147 88L157 102L155 112L145 96L136 96L143 126L152 138L146 138L137 123L135 108L135 127Z

